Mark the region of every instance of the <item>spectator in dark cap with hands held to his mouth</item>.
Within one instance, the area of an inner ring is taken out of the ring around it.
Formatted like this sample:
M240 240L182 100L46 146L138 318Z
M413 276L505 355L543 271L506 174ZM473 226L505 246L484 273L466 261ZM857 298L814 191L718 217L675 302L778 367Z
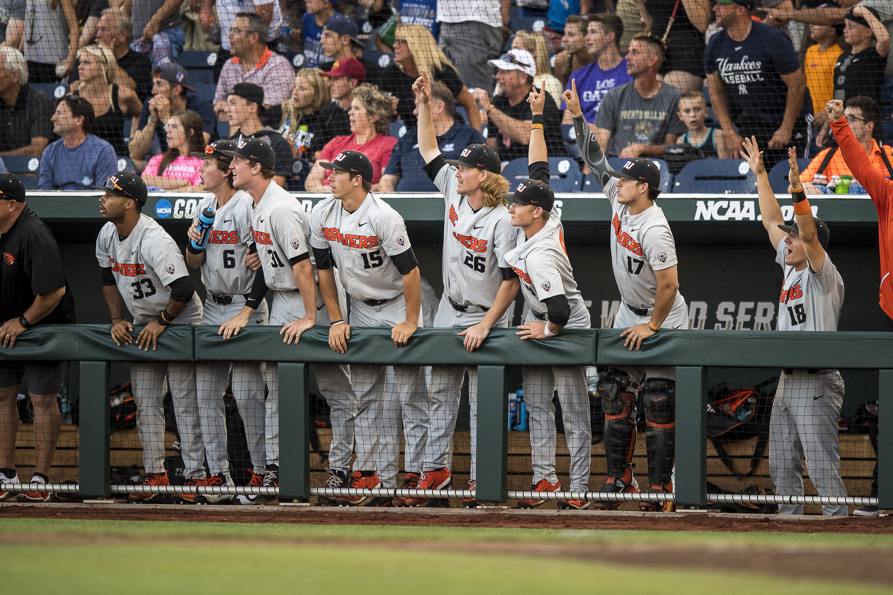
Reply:
M143 110L139 113L139 125L136 131L130 132L130 159L143 161L152 138L158 135L162 152L167 151L167 135L164 122L171 119L174 112L190 110L202 117L204 144L211 142L212 132L217 128L214 118L214 106L210 101L200 99L195 89L188 87L188 74L179 64L165 63L152 70L152 97L143 102ZM191 94L188 92L192 91ZM208 132L210 130L211 132ZM204 145L203 145L204 150Z

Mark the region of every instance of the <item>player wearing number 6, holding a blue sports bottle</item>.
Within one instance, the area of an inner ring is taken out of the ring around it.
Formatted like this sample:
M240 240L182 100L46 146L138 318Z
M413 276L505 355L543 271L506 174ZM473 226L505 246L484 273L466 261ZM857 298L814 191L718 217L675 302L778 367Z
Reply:
M198 169L202 188L210 194L198 202L193 225L189 227L190 240L201 242L198 217L206 208L214 211L214 222L207 232L204 248L196 249L189 242L186 246L186 263L193 269L201 268L207 299L204 302L203 325L221 326L235 318L246 305L251 287L255 283L255 271L245 263L248 252L256 252L251 236L251 197L244 190L232 186L230 163L232 158L221 153L236 149L229 140L219 140L207 145L204 153L192 153L204 160ZM263 283L263 272L258 275ZM263 285L264 287L266 285ZM266 325L269 313L262 300L247 304L255 309L249 324ZM248 362L203 361L196 363L196 388L198 393L199 421L202 427L204 456L211 476L200 485L233 485L230 475L230 459L227 456L226 413L223 393L230 384L232 369L232 393L238 404L239 415L245 425L248 451L251 456L251 480L249 485L260 486L263 474L255 473L266 462L263 444L263 364ZM181 494L174 501L188 503L219 504L232 500L231 494Z

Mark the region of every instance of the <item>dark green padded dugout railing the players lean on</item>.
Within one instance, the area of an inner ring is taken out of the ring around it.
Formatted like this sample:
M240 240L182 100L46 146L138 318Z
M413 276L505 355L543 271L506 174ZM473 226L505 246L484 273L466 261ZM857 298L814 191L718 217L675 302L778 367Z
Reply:
M138 333L135 329L134 336ZM77 484L4 485L12 492L78 492L85 498L113 493L213 493L220 488L110 483L110 370L113 361L267 361L280 363L280 486L227 488L227 493L275 492L280 503L310 496L475 497L504 502L530 498L509 491L508 387L510 368L521 366L664 366L676 368L676 470L674 493L608 495L597 492L551 492L549 500L675 501L701 506L706 492L707 368L847 368L878 370L879 497L778 496L741 494L709 496L713 502L839 504L893 508L893 336L884 333L777 333L771 331L662 331L640 351L623 346L613 329L565 330L547 341L520 341L513 329L493 329L474 352L463 348L455 329L419 329L409 345L396 348L390 331L355 328L348 351L328 344L328 330L314 327L296 345L282 343L279 328L247 327L224 341L211 326L171 326L157 350L141 351L135 343L115 345L109 326L38 326L20 335L14 349L0 350L0 362L67 360L79 362L79 481ZM326 490L310 481L310 367L313 363L391 365L463 365L479 370L478 481L476 492L461 490ZM867 396L867 395L866 395Z

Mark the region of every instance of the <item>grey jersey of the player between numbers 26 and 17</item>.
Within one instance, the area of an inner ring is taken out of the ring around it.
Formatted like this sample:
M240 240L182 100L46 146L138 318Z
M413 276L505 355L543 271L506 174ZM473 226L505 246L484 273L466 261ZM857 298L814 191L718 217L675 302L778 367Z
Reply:
M555 295L564 295L571 306L568 328L588 328L589 310L583 303L577 282L573 279L571 260L564 250L564 236L561 221L555 213L533 237L524 235L518 228L517 246L507 254L505 261L521 278L524 301L530 310L545 320L548 309L543 300Z

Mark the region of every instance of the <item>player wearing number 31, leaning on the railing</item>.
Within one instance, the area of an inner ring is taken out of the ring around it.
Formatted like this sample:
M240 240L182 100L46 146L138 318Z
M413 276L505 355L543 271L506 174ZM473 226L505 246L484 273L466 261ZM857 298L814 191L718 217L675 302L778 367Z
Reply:
M316 292L313 259L309 252L310 230L307 213L294 196L272 181L276 153L259 138L240 141L231 150L222 152L232 157L233 186L245 190L253 199L251 233L263 269L262 286L252 286L242 311L223 323L224 338L238 334L238 329L255 317L255 308L263 300L267 287L273 290L270 324L282 325L280 335L291 344L315 325L329 323L329 311ZM216 218L215 218L216 219ZM261 273L258 273L257 279ZM336 301L343 296L335 294ZM346 487L351 451L354 445L356 396L345 368L314 364L313 372L320 391L331 409L332 443L330 446L330 487ZM266 465L263 487L279 486L279 365L267 365L265 435ZM239 496L240 504L265 504L275 496Z

